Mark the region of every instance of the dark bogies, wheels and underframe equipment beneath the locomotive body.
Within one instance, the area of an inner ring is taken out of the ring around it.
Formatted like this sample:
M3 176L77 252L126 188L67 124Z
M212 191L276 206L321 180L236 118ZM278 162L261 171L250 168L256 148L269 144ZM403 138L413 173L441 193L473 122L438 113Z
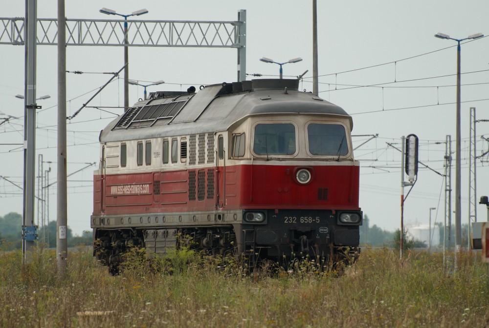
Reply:
M322 242L315 240L312 230L289 230L291 238L285 243L258 244L257 230L248 228L244 226L242 247L232 226L97 229L93 253L109 267L111 274L117 274L122 255L132 247L144 247L148 253L158 255L182 247L214 256L244 255L249 267L264 260L284 265L306 258L331 266L341 261L352 262L360 252L359 247L334 246L329 238Z

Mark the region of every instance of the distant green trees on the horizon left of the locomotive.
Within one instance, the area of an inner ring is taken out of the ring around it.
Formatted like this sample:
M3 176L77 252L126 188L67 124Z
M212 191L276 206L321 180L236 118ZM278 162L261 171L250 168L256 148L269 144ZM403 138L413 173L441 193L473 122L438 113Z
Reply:
M49 222L44 227L37 229L38 242L46 243L47 247L56 247L56 221ZM67 228L68 247L77 245L91 245L92 234L84 233L83 236L74 236L73 232ZM5 216L0 216L0 250L22 249L22 215L10 212Z

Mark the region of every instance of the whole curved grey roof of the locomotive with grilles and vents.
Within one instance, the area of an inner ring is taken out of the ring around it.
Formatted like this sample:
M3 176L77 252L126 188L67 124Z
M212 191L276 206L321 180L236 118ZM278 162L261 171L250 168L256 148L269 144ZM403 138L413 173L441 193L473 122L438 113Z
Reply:
M223 131L248 116L319 114L348 118L341 107L298 91L298 80L261 79L201 86L193 93L168 92L136 102L101 132L100 142Z

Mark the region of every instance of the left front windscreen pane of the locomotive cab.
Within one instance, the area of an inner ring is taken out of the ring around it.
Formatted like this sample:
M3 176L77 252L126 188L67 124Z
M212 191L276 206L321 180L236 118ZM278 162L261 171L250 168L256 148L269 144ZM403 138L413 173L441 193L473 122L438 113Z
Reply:
M257 155L292 155L296 149L295 126L263 123L255 126L253 151Z

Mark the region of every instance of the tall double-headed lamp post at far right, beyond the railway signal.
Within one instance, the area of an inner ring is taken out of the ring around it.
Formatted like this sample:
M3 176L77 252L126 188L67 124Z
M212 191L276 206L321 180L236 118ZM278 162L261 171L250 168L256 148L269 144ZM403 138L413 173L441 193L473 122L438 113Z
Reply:
M461 216L462 216L462 209L461 207L461 199L460 199L460 166L461 166L461 133L460 133L460 42L468 40L468 39L477 39L483 37L484 34L482 33L477 33L473 35L469 35L465 39L454 39L450 38L450 36L443 34L443 33L437 33L435 34L435 37L440 38L440 39L448 39L448 40L453 40L457 41L457 116L456 116L456 136L455 138L456 143L455 143L455 263L454 263L454 270L457 271L458 269L458 251L461 248L462 244L462 238L461 238L461 229L462 229L462 221L461 221Z

